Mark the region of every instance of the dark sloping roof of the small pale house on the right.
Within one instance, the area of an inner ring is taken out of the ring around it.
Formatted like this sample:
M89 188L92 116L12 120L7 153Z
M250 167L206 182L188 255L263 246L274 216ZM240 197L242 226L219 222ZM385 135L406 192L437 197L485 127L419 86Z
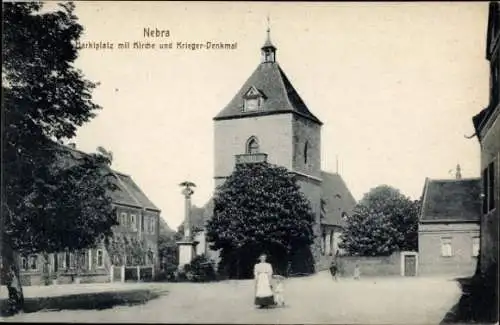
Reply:
M425 181L421 222L479 222L481 179Z

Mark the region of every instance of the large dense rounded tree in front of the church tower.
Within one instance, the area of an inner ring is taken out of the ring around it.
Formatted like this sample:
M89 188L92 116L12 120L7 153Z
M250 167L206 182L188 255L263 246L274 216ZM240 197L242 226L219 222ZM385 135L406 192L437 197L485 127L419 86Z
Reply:
M301 261L295 265L311 262L302 272L313 272L309 247L314 215L294 175L285 168L267 163L236 165L215 193L213 213L206 226L207 241L211 249L220 250L222 269L230 276L251 276L251 267L263 251L281 272L294 258Z

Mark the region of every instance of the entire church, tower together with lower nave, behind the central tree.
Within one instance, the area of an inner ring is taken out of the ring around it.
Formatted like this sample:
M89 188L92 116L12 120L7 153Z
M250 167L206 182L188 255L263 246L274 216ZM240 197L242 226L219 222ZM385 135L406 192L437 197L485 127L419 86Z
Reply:
M293 172L316 216L312 251L316 269L322 269L338 251L344 218L356 201L338 173L322 171L323 123L299 96L276 54L268 29L257 69L213 119L215 187L241 163L266 161ZM213 203L208 202L193 225L201 225L212 211ZM208 251L203 231L196 239L198 254L213 253Z

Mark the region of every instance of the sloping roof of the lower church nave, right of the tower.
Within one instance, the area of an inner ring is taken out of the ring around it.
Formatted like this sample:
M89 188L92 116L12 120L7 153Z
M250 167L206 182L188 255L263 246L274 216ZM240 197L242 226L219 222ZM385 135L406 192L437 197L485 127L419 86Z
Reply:
M325 225L344 227L344 214L351 215L356 199L349 191L346 183L338 173L321 172L322 199L324 201L324 219L321 221Z

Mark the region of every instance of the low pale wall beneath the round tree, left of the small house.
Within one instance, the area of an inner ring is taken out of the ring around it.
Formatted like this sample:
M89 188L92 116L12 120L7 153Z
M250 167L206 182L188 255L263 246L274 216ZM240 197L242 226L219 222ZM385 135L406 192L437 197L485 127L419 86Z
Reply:
M401 254L391 256L339 256L339 272L341 276L352 277L354 268L359 265L363 276L400 276Z

